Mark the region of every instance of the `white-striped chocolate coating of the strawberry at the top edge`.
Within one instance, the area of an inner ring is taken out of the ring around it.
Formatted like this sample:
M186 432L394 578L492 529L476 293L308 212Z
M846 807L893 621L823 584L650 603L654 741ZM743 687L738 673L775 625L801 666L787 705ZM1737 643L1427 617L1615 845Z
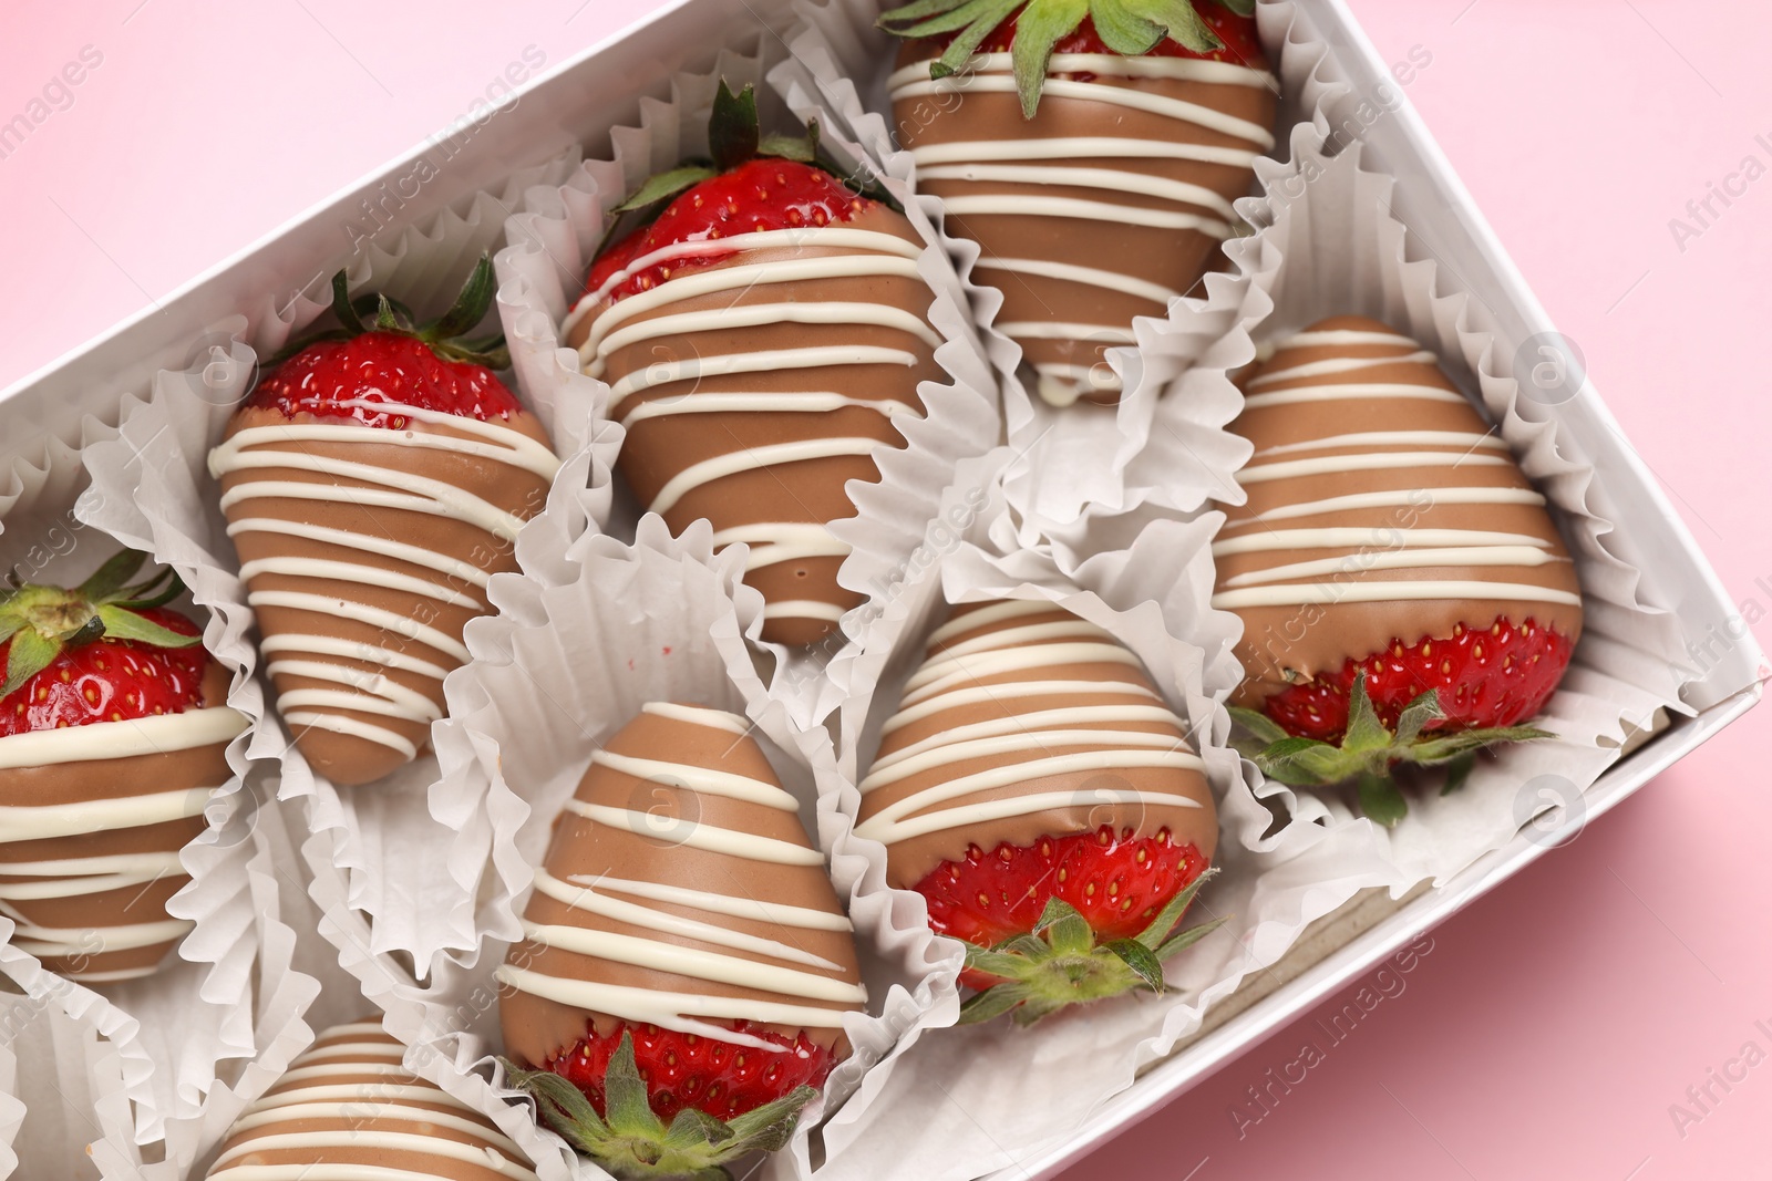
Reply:
M1175 57L1056 53L1033 120L1008 53L930 80L911 42L888 87L918 186L952 234L983 248L1003 292L998 328L1022 347L1040 397L1113 404L1108 349L1132 317L1164 315L1207 269L1274 145L1265 69Z

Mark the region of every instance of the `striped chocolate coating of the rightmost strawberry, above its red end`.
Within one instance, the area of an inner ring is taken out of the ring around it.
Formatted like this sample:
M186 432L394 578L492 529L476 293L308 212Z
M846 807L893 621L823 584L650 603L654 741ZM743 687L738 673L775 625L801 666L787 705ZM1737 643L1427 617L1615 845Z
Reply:
M1340 317L1283 342L1244 391L1249 499L1212 547L1212 604L1246 621L1239 699L1496 618L1579 636L1543 496L1432 352Z

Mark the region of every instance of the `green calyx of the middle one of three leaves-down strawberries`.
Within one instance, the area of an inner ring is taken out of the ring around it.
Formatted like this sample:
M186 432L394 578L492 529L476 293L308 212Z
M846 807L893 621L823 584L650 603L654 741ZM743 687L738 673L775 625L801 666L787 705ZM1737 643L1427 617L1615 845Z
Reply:
M1162 961L1216 931L1224 919L1177 931L1182 912L1217 869L1207 869L1178 891L1134 938L1095 942L1095 928L1063 898L1053 898L1026 935L994 947L968 944L966 967L1003 979L960 1006L960 1023L989 1022L1005 1013L1017 1025L1033 1025L1072 1004L1104 1000L1125 992L1162 993Z

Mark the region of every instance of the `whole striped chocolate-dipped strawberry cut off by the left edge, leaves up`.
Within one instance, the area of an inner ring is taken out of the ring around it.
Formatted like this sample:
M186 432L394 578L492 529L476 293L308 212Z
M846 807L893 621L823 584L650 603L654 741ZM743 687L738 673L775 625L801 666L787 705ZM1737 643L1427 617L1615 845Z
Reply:
M179 850L229 779L246 719L172 570L122 551L74 590L0 591L0 915L87 983L147 976L191 928L167 914Z

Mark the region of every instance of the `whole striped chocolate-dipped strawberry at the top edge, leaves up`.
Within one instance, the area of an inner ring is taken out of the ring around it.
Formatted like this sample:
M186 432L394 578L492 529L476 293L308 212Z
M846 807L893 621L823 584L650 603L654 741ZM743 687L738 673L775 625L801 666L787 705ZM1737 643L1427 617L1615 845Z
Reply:
M1161 317L1237 221L1274 147L1278 83L1255 0L916 0L893 120L918 188L976 241L996 326L1056 405L1120 400L1106 363Z

